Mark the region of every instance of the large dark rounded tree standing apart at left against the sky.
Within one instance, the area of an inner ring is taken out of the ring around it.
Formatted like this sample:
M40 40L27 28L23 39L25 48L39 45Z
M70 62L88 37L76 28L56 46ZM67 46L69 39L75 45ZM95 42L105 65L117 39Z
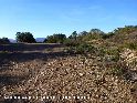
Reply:
M17 32L17 42L34 43L35 39L30 32Z

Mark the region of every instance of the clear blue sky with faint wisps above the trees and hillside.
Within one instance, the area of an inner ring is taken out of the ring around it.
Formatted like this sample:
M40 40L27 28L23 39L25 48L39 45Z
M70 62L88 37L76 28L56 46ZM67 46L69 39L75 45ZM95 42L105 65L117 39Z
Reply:
M137 24L137 0L0 0L0 38L70 35L93 28L105 32Z

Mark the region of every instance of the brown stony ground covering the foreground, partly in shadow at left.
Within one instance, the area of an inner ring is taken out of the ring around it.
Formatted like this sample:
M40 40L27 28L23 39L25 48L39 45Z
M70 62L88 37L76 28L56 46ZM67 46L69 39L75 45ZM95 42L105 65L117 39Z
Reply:
M125 49L119 61L112 61L42 47L1 52L0 103L137 102L136 51Z

